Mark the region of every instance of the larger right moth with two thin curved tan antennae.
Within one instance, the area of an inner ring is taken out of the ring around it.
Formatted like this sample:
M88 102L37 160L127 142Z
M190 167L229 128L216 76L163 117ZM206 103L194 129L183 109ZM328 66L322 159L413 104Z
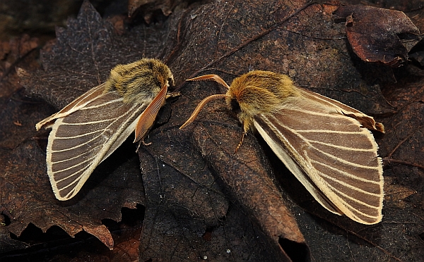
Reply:
M225 99L244 130L237 149L252 129L324 208L358 223L382 220L382 159L370 132L384 133L382 123L296 87L287 75L254 70L235 78L230 86L218 75L189 80L215 80L228 92L201 101L180 128L192 123L209 101Z

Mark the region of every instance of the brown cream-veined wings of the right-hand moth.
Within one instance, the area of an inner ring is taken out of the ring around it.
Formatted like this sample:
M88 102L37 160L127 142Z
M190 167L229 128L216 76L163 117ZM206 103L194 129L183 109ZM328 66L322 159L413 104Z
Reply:
M322 97L314 99L313 94L304 96L302 103L259 115L254 126L322 206L359 223L378 223L383 171L374 137L357 118L348 116L350 107L331 104L332 99L323 104ZM370 118L355 109L349 113Z

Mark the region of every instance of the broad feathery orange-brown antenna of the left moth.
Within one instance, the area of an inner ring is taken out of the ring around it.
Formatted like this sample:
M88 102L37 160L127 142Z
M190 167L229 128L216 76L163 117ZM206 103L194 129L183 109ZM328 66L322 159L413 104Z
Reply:
M155 122L155 118L158 115L159 109L162 107L163 102L165 101L166 93L167 85L163 85L158 95L156 95L155 98L151 101L151 104L149 104L146 110L141 113L141 116L136 125L136 137L134 138L134 143L140 139L143 139L149 128L153 125L153 122Z

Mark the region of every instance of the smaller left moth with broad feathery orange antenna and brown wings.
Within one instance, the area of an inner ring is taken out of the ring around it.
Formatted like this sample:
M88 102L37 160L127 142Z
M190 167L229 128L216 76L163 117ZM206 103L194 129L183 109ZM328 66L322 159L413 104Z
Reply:
M35 128L52 128L47 142L47 175L61 201L75 196L93 170L132 132L146 136L174 77L154 58L117 65L108 80L82 94ZM143 142L144 144L144 142Z

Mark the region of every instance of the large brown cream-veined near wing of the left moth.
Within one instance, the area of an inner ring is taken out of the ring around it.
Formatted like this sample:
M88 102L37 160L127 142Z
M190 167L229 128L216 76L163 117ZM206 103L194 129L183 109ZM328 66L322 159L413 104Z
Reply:
M47 144L47 174L59 200L78 193L93 170L131 135L148 104L125 104L117 92L97 94L88 103L76 99L64 117L60 112L54 117L57 120Z

